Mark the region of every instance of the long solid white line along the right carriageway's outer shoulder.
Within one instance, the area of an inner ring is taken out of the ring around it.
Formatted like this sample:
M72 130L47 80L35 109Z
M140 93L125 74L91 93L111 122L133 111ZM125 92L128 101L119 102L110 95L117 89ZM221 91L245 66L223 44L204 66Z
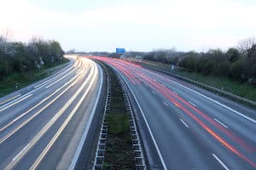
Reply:
M229 111L232 111L232 112L236 113L237 115L246 118L248 121L256 122L253 118L250 118L250 117L248 117L248 116L245 116L245 115L241 114L239 111L235 111L235 110L231 109L229 106L219 103L219 102L218 102L217 100L215 100L215 99L211 99L211 98L205 96L204 94L201 94L201 93L199 93L199 92L196 92L195 90L192 90L191 88L187 88L187 87L183 86L182 84L179 84L179 83L177 83L177 82L174 82L174 81L172 81L172 80L169 80L169 79L166 78L166 77L165 77L165 79L166 79L167 81L176 83L178 86L181 86L181 87L183 87L183 88L186 88L186 89L188 89L189 91L191 91L191 92L193 92L193 93L195 93L195 94L198 94L198 95L200 95L201 97L203 97L203 98L205 98L205 99L209 99L210 101L212 101L213 103L215 103L215 104L217 104L217 105L221 105L221 106L224 107L225 109L227 109L227 110L229 110Z

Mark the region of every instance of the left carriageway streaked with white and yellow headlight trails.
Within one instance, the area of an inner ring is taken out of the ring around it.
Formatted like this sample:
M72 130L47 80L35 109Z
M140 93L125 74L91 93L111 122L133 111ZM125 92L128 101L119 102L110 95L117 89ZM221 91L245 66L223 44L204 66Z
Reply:
M73 169L102 102L103 78L95 62L72 57L0 99L0 169Z

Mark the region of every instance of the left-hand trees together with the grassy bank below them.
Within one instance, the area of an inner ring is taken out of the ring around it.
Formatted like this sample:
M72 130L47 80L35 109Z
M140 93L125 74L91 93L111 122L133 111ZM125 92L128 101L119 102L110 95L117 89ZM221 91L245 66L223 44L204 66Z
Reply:
M63 54L56 41L9 42L0 36L0 96L49 76L50 67L68 61Z

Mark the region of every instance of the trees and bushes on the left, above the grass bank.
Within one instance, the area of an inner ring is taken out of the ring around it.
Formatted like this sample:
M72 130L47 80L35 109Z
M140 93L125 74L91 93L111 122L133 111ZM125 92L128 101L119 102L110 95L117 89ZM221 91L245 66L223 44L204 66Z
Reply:
M33 38L28 43L0 37L0 80L13 72L32 71L63 59L59 42Z

